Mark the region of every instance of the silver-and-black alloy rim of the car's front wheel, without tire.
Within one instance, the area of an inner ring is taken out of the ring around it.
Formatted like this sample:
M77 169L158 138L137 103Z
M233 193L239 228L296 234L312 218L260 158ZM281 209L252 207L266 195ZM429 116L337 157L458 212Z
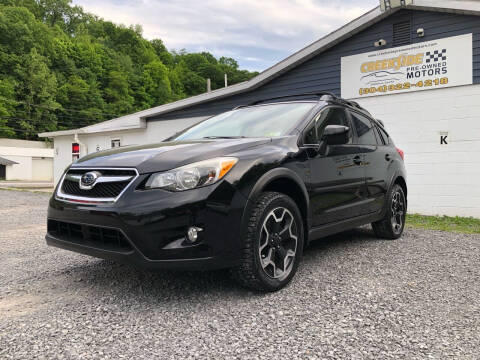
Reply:
M260 230L259 255L263 271L284 280L292 271L297 253L298 228L292 213L278 207L268 213Z

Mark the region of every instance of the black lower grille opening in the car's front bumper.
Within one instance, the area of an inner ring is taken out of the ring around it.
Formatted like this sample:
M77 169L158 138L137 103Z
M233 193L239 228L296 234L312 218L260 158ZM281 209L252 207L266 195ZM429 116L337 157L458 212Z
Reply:
M116 252L130 252L132 246L117 229L48 220L48 233L60 240Z

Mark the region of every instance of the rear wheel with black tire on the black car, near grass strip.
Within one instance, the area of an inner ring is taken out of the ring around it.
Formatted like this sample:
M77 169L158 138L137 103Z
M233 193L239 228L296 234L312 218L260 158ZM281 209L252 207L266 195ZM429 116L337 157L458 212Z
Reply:
M372 228L379 238L395 240L402 236L407 214L407 200L400 185L394 184L387 194L385 217L372 223Z

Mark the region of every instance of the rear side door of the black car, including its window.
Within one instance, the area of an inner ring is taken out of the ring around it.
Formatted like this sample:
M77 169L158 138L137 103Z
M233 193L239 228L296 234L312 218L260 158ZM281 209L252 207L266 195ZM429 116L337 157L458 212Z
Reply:
M356 132L354 142L363 153L365 169L366 210L373 213L381 210L385 204L390 167L393 160L392 149L386 146L378 133L375 123L359 112L349 110L351 121ZM393 174L392 174L393 175Z

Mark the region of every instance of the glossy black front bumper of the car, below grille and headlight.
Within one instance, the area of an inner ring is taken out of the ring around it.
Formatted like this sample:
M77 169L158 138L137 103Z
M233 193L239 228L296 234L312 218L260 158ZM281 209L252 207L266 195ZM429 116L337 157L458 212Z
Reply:
M140 176L113 204L72 204L53 196L47 244L146 268L203 270L240 263L247 200L234 186L222 181L177 193L136 190L143 180ZM186 240L190 226L203 229L194 244Z

